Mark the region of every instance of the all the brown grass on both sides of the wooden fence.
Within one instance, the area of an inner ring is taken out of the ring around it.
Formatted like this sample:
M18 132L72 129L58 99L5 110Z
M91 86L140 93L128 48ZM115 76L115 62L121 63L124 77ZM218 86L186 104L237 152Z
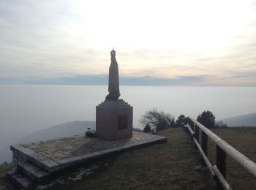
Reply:
M214 133L226 140L252 161L256 161L256 128L214 129ZM208 172L198 172L200 153L193 151L192 142L183 129L167 129L159 132L167 137L166 143L118 153L100 159L83 168L97 166L94 174L81 180L49 186L48 189L215 189L215 182ZM215 146L208 140L208 157L215 164ZM106 166L108 164L108 166ZM53 180L67 181L78 168L61 172L49 180L35 183L47 185ZM9 167L0 167L1 183L7 183L4 172ZM227 181L233 189L255 189L256 180L227 156Z

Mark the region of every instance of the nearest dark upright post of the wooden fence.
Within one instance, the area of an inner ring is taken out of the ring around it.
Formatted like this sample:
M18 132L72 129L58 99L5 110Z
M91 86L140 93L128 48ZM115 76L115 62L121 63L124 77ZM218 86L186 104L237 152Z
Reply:
M222 173L223 177L226 178L226 153L216 145L216 165L219 172ZM223 190L222 185L217 180L217 190Z

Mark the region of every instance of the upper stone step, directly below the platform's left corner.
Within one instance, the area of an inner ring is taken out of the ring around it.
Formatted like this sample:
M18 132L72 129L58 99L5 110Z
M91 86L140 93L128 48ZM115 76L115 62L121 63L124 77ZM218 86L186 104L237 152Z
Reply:
M17 166L20 172L28 175L32 180L42 180L49 175L48 172L41 170L39 167L29 162L18 163Z

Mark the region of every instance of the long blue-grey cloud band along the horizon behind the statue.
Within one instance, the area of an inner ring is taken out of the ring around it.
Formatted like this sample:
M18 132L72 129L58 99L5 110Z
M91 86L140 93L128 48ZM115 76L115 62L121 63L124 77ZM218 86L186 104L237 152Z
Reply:
M206 76L161 77L122 77L121 86L178 86L193 85L202 82ZM108 75L75 75L56 78L0 78L0 84L33 84L33 85L94 85L107 86Z

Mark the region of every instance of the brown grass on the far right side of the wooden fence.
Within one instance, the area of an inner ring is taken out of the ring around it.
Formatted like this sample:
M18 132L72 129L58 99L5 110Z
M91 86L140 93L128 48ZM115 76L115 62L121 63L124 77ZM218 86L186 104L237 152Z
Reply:
M256 127L214 129L213 132L256 162ZM208 140L208 156L211 163L215 164L216 146L211 140ZM256 179L252 175L242 169L230 156L227 156L226 163L227 182L233 189L255 189Z

